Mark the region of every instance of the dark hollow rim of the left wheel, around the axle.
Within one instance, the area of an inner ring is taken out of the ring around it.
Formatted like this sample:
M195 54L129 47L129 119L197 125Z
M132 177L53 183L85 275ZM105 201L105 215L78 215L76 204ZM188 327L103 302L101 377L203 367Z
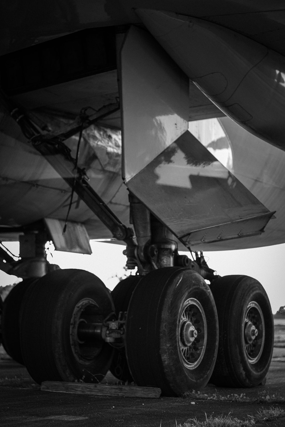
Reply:
M70 342L75 359L82 364L89 364L100 353L103 341L97 339L80 339L79 325L96 324L102 322L103 317L98 315L98 304L91 298L84 298L74 307L71 325ZM100 330L98 330L100 337Z

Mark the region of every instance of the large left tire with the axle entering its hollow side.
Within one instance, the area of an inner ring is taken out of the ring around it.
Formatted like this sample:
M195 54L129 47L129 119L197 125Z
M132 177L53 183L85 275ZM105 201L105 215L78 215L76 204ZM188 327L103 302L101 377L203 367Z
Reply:
M93 322L114 315L111 294L97 276L77 269L50 272L29 287L23 304L22 355L37 383L104 378L113 348L100 339L82 344L76 333L82 313Z

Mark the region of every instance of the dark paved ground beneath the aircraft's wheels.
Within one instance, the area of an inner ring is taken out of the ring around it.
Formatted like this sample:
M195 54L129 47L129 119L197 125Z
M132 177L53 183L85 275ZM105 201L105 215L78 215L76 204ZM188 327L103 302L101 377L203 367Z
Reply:
M219 396L207 401L189 398L108 398L41 392L26 369L12 360L0 359L0 426L156 426L175 427L189 418L202 421L205 412L220 415L231 412L240 419L255 415L261 408L285 409L285 348L274 349L273 361L265 386L255 389L215 389L207 386L203 393ZM1 357L1 351L0 351ZM3 354L2 354L3 357ZM245 401L223 400L227 395L245 394ZM267 402L270 396L270 402ZM251 403L250 399L261 402ZM285 426L285 418L256 426Z

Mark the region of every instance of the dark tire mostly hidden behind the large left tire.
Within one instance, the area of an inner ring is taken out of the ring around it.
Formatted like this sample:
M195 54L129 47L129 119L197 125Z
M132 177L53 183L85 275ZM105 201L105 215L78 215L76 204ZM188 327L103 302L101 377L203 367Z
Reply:
M7 354L24 365L20 345L20 310L24 295L37 278L24 279L15 285L6 296L2 313L2 339Z

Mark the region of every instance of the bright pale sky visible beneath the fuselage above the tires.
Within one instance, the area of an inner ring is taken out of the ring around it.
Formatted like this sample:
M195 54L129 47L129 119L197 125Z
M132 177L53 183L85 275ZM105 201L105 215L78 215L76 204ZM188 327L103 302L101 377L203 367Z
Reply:
M94 241L90 243L92 255L54 251L53 257L49 255L48 259L62 269L90 271L112 290L118 283L118 277L125 273L123 266L126 257L122 254L125 246ZM5 246L13 254L19 254L18 242L5 242ZM267 292L273 313L285 305L285 244L238 251L204 252L204 256L209 267L220 276L243 274L256 278ZM0 286L18 281L15 276L0 270Z

